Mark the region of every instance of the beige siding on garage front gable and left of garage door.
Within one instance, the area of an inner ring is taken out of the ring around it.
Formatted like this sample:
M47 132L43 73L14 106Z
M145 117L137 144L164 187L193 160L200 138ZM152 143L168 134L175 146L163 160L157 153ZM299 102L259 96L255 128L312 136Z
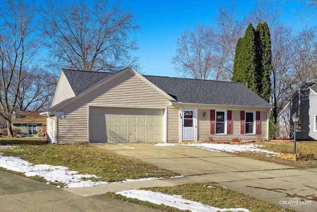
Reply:
M98 106L169 107L169 101L142 79L126 72L59 111L58 142L88 141L88 104Z

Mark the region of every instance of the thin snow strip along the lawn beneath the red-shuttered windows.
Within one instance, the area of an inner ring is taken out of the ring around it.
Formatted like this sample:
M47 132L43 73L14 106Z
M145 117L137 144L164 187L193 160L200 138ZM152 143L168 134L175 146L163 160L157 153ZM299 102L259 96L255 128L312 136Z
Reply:
M268 151L266 149L261 149L262 145L259 144L224 144L224 143L158 143L156 146L174 146L174 145L187 145L187 146L195 146L198 148L207 149L210 151L228 151L228 152L239 152L239 151L253 151L253 152L264 152L267 154L277 154L273 151Z

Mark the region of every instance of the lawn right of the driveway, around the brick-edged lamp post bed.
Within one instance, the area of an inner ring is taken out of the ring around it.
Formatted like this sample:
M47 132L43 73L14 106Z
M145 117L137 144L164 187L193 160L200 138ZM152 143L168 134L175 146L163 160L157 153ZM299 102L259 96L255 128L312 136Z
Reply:
M269 151L274 152L294 152L294 143L273 143L273 142L263 142L263 143L256 143L258 144L259 148L266 149ZM231 152L229 152L231 153ZM267 162L273 162L288 166L294 166L297 168L317 168L317 141L299 141L296 142L296 153L313 153L315 160L286 160L281 159L276 156L266 156L266 153L261 152L237 152L233 154L237 154L239 156L253 158L257 160L263 160Z

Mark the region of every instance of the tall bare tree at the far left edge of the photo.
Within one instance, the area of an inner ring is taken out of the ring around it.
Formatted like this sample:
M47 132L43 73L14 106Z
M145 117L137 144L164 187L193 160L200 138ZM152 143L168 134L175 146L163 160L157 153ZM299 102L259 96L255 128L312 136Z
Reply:
M34 7L22 0L7 0L0 5L0 116L5 119L8 136L12 137L11 118L17 108L17 98L23 69L31 66L37 52Z

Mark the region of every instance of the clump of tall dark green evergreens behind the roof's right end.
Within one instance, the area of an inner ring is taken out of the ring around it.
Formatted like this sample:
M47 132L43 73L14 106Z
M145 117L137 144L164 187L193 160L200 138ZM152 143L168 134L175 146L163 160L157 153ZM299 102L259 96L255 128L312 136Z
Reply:
M272 70L271 41L267 23L252 23L245 35L239 38L233 63L231 81L239 81L266 101L270 99L270 74Z

